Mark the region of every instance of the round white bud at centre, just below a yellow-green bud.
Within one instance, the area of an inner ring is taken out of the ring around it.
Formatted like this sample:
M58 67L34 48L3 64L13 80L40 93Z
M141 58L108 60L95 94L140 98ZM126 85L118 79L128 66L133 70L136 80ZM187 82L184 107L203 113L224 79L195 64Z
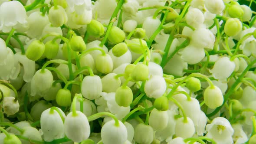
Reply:
M166 82L162 76L154 75L144 86L144 91L149 98L159 98L166 91Z

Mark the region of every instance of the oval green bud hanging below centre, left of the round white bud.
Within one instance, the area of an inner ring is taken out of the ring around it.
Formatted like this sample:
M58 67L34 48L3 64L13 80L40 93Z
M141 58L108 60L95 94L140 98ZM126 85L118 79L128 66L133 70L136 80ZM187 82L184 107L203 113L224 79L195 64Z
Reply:
M128 107L132 99L133 94L128 86L120 86L115 92L115 101L119 106Z

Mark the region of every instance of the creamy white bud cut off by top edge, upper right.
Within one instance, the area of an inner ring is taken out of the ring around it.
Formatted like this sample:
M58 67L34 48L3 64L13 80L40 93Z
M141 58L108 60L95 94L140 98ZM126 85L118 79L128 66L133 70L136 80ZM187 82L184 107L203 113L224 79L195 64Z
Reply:
M214 14L220 14L225 9L223 0L204 0L204 6Z

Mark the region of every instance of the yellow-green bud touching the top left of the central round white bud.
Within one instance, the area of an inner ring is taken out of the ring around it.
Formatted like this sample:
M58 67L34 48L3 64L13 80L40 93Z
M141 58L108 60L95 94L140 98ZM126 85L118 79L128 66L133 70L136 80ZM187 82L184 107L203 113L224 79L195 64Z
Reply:
M133 72L131 73L131 78L134 79L135 81L145 81L148 79L149 75L149 69L148 66L139 63L138 65L135 66Z

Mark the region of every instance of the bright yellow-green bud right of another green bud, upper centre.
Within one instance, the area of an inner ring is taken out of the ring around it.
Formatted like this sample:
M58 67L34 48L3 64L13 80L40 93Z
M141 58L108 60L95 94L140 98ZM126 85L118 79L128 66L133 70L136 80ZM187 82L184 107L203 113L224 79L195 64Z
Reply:
M113 26L108 35L108 40L114 44L121 43L125 40L125 32L117 26Z

